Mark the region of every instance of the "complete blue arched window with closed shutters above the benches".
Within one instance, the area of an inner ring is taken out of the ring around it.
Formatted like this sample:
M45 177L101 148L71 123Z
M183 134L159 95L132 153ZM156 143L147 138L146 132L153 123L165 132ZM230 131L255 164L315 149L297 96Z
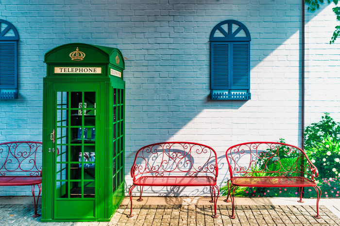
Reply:
M224 20L210 33L211 99L250 99L250 33Z

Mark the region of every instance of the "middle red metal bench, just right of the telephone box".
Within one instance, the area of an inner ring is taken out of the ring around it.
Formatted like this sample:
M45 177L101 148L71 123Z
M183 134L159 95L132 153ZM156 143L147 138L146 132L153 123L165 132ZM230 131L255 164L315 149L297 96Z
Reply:
M131 167L133 185L129 189L132 214L132 191L140 186L137 201L142 201L144 186L209 186L210 202L216 204L220 194L216 185L218 175L217 158L214 149L207 145L191 142L163 142L146 145L136 153ZM217 195L216 195L217 193Z

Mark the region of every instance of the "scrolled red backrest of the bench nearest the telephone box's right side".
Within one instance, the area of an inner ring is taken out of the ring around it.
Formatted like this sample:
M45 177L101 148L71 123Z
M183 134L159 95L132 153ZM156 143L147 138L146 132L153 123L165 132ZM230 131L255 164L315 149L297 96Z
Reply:
M131 177L149 176L212 176L218 175L214 149L189 142L163 142L146 145L136 153Z

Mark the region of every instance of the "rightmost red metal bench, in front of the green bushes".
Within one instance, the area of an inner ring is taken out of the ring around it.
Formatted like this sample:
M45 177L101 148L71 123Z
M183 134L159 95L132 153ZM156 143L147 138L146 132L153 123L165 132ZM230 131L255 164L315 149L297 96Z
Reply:
M301 148L277 142L249 142L229 147L225 155L230 179L224 201L230 202L231 196L233 212L230 218L235 218L234 193L237 187L298 187L298 202L303 202L303 188L313 187L317 192L317 215L314 217L321 218L321 190L315 181L318 170Z

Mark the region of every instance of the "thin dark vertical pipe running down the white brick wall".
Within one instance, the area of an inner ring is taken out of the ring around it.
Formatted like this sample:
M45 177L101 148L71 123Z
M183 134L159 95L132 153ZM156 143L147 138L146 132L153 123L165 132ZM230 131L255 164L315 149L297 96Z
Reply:
M301 148L305 139L305 0L302 0L302 52L301 52Z

